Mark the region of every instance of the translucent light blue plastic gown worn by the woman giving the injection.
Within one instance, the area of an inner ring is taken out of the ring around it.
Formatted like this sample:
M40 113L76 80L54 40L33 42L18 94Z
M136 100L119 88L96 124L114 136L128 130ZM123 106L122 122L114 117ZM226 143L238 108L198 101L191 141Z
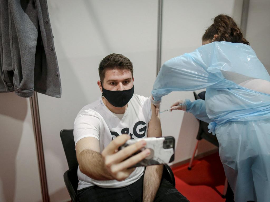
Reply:
M157 101L172 91L206 88L205 101L184 103L217 135L234 200L269 202L270 95L225 79L228 72L270 81L250 46L213 42L165 62L151 93Z

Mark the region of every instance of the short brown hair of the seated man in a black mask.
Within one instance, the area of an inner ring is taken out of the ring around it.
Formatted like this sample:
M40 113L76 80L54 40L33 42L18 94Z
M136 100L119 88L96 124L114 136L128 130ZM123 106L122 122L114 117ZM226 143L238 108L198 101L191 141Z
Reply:
M131 75L133 76L132 63L130 62L129 58L121 54L112 53L107 55L99 63L99 78L101 83L103 83L106 69L130 70Z

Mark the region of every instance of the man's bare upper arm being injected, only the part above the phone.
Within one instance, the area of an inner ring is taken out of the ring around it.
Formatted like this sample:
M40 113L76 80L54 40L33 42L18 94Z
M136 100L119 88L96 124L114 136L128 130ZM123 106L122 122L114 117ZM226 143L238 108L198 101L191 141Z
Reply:
M160 118L156 114L156 107L151 104L152 116L151 120L148 123L147 137L161 137L161 125Z

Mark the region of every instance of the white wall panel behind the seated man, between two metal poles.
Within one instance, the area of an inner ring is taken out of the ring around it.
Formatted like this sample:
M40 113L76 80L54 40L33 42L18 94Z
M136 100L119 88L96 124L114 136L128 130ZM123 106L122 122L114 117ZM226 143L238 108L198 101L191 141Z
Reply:
M60 130L73 129L79 110L100 95L98 65L120 53L134 67L135 93L150 96L156 78L157 1L48 0L62 97L38 94L51 202L68 199Z

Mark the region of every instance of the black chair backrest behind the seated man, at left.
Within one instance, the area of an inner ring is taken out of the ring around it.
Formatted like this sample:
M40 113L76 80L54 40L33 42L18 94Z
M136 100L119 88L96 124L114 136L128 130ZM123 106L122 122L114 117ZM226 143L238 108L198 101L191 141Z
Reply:
M76 158L73 130L61 130L60 137L65 151L69 169L71 170L77 169L78 162Z

